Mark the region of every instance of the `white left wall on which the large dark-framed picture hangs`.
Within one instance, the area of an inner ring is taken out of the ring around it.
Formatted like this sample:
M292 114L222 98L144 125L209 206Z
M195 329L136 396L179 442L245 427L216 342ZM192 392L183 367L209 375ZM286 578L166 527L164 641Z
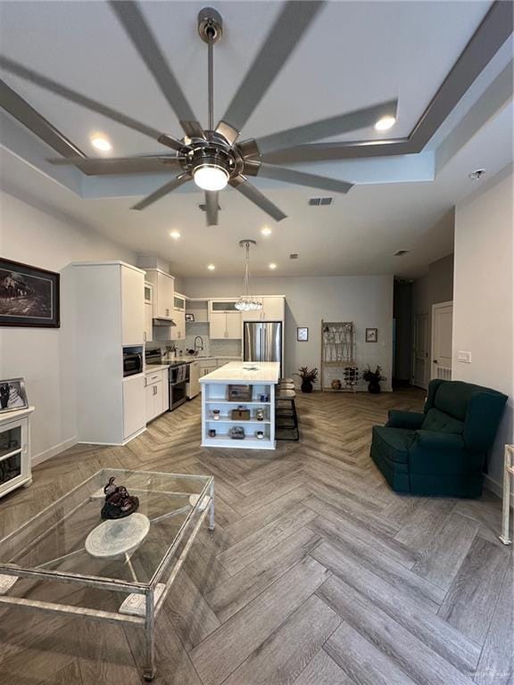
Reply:
M4 259L61 271L61 327L0 327L0 378L23 376L32 415L32 454L52 456L75 442L73 305L65 267L71 261L135 263L120 245L50 210L0 193L0 254Z

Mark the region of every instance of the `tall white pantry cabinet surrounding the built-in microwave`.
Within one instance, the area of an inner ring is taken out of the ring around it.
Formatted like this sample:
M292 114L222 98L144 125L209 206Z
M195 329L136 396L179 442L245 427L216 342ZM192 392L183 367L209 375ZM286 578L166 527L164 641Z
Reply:
M79 359L73 379L77 439L124 444L145 430L144 376L123 377L123 351L143 354L145 271L121 261L70 268Z

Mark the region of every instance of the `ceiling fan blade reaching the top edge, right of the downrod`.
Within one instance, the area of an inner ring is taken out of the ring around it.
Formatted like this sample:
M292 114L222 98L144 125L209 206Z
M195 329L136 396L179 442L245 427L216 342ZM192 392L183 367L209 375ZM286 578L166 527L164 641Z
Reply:
M218 125L217 130L229 136L230 143L234 143L239 131L245 126L324 4L311 0L290 0L285 4Z

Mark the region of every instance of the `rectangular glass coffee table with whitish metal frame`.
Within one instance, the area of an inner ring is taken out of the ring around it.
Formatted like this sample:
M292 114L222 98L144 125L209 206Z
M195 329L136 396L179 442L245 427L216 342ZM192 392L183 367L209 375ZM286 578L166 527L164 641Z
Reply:
M139 508L105 525L112 476ZM102 469L0 541L0 607L139 627L151 681L155 617L206 517L214 530L211 476Z

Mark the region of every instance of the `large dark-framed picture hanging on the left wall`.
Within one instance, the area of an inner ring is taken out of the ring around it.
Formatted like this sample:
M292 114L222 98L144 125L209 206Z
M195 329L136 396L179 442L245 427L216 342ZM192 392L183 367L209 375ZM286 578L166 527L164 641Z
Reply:
M59 274L0 259L0 326L58 328Z

